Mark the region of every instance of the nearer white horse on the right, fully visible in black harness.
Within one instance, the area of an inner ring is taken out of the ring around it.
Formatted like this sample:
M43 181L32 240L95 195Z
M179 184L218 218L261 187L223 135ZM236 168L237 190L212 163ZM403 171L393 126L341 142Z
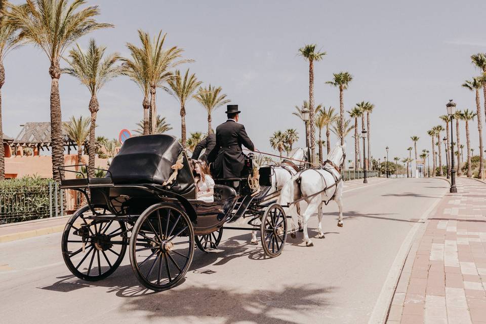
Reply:
M321 169L307 169L293 176L291 181L282 188L278 203L283 206L290 204L290 215L299 215L294 212L294 201L302 199L307 203L307 208L302 215L304 224L305 245L313 246L307 233L307 221L310 216L317 213L319 224L317 226L317 238L324 238L322 233L322 204L330 200L336 201L339 208L338 226L343 226L343 181L340 174L345 159L346 146L337 144L328 155L328 160ZM292 222L291 235L295 235L295 219Z

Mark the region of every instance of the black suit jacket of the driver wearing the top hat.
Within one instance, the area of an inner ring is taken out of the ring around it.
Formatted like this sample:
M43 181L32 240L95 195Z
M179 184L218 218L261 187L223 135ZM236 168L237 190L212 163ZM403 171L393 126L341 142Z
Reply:
M245 154L243 154L241 146L245 146L251 151L255 150L245 126L229 119L216 128L218 155L213 170L218 178L240 177L241 171L245 167Z

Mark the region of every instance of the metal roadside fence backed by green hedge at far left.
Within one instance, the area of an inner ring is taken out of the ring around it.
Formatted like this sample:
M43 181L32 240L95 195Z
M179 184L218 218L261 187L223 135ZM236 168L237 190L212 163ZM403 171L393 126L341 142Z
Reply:
M63 216L83 204L74 190L59 188L56 182L33 186L0 188L0 225Z

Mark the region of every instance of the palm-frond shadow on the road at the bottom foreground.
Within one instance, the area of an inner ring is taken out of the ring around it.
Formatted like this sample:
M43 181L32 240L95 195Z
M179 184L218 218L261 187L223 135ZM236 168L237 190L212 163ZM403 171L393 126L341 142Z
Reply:
M322 307L328 305L325 295L334 289L301 285L237 292L227 288L187 287L127 300L121 310L142 311L145 320L155 322L175 319L184 322L185 318L187 322L293 324L302 322L302 318L294 319L296 313L301 316L321 313Z

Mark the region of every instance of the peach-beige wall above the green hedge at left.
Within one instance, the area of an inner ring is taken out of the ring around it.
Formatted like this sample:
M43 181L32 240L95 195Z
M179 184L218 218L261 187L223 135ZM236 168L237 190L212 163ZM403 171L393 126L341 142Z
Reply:
M83 164L88 164L88 155L83 155ZM96 158L97 168L108 169L108 159ZM77 154L65 154L64 165L75 165ZM72 168L73 170L77 168ZM5 158L5 175L7 178L21 178L23 176L37 176L41 178L52 178L52 159L51 156L12 156ZM66 172L66 179L75 178L75 174Z

